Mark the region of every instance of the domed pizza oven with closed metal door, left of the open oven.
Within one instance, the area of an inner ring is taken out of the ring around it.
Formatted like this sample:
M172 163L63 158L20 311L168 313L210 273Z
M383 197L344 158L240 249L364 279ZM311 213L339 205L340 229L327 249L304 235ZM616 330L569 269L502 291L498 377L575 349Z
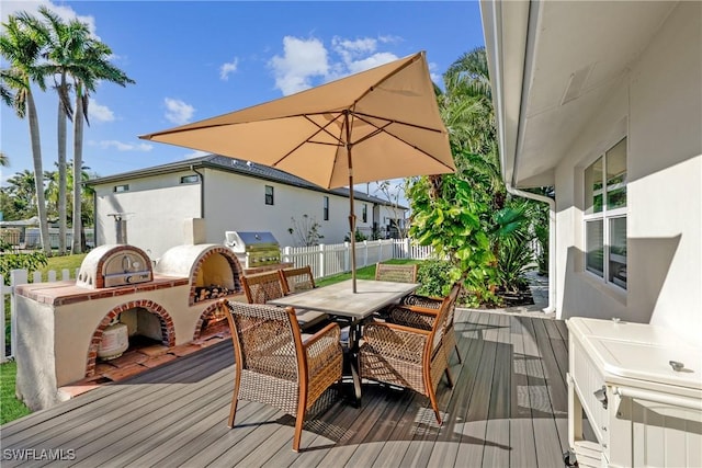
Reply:
M134 246L105 244L90 251L80 264L77 286L100 289L154 279L149 256Z

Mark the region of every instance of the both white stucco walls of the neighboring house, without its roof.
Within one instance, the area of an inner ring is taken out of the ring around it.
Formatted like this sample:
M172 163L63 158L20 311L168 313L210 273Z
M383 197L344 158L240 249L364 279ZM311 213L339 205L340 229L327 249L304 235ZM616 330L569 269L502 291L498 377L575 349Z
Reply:
M168 249L189 242L185 220L203 218L203 242L224 243L225 231L270 231L281 247L298 246L291 236L294 217L302 226L303 215L314 217L324 236L321 243L340 243L349 232L349 198L324 192L239 175L213 169L200 169L204 174L204 213L201 214L200 183L180 183L181 171L133 179L95 186L97 242L114 243L116 229L111 213L127 213L127 240L146 251L152 260ZM114 192L115 185L128 183L126 192ZM274 204L265 204L265 185L273 186ZM324 197L329 197L329 219L324 219ZM367 217L363 221L363 206ZM356 226L371 236L374 204L354 203ZM377 221L377 219L376 219ZM192 229L192 228L191 228Z

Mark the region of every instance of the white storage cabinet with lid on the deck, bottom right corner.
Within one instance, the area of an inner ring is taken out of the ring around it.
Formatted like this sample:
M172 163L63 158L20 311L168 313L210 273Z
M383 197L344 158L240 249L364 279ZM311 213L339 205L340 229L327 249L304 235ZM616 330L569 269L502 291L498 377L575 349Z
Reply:
M702 467L702 346L649 324L566 323L566 465ZM582 411L597 442L584 437Z

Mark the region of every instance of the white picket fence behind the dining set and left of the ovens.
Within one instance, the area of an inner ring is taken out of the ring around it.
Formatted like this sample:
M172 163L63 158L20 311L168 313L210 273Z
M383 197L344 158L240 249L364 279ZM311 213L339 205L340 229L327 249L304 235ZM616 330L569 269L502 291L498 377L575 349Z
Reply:
M356 267L373 265L389 259L415 259L424 260L431 256L432 249L428 247L412 246L409 239L387 239L358 242L355 244ZM351 243L337 243L329 246L314 247L283 247L281 248L281 260L292 262L295 266L310 265L315 278L336 275L351 271ZM68 281L78 276L78 270L71 272L67 269L60 273L49 271L47 282ZM43 281L39 272L34 272L31 283ZM10 273L10 286L5 286L3 277L0 277L0 290L2 300L0 301L0 363L4 363L14 356L14 311L15 297L12 294L14 286L30 283L30 275L26 270L13 270ZM9 300L7 300L9 298ZM7 305L9 303L10 313L5 317ZM7 330L10 332L7 333Z

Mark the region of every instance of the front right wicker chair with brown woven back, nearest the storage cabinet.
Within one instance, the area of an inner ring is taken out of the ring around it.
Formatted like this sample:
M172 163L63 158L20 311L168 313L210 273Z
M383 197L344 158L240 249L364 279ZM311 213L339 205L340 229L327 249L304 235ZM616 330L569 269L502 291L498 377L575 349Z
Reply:
M415 312L423 311L434 317L430 330L388 322L366 323L363 329L364 343L359 351L362 378L410 388L424 395L431 402L439 424L442 420L437 388L442 375L445 374L449 387L453 387L444 340L451 308L450 297L443 300L438 310L414 308Z

